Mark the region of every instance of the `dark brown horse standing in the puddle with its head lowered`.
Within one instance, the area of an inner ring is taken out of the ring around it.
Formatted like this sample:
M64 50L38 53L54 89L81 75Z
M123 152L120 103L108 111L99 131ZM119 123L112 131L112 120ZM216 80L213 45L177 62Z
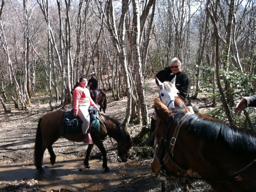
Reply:
M75 142L83 142L83 134L64 134L62 131L62 119L65 111L54 111L45 114L39 119L37 131L36 131L36 142L34 151L34 163L36 169L39 172L44 172L42 168L44 151L47 148L50 153L50 161L53 165L55 163L56 156L52 149L52 144L57 141L61 136ZM129 151L132 148L132 138L125 131L124 127L119 124L113 118L101 114L100 115L100 132L91 133L93 143L100 149L103 156L102 168L104 171L108 171L107 165L107 153L103 146L102 141L109 135L117 142L118 156L123 162L128 160ZM89 144L86 156L84 159L84 167L90 168L89 156L92 151L94 144Z

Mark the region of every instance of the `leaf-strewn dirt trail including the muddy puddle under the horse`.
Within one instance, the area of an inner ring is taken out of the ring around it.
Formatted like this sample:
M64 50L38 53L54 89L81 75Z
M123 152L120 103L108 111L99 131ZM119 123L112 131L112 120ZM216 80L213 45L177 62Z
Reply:
M153 100L155 97L158 98L158 87L154 79L147 80L146 84L146 102L149 114L152 114ZM109 98L106 113L122 122L127 100L113 100L111 92L107 92L107 95ZM5 114L3 110L0 111L0 191L154 192L161 190L160 182L151 171L150 159L137 158L137 161L129 160L126 163L120 163L108 138L103 144L108 153L108 166L111 169L109 173L102 173L101 155L96 146L90 158L92 169L87 170L82 165L87 147L83 143L60 138L53 145L57 156L56 164L50 165L49 153L45 151L46 175L38 177L33 165L36 127L39 117L50 112L49 104L42 104L43 100L44 97L32 98L33 106L24 111L15 110L12 103L7 103L11 113ZM198 104L199 102L197 106ZM70 105L66 107L67 110L70 108ZM140 126L132 127L129 133L133 137L140 129ZM152 149L149 148L149 150ZM60 185L61 183L65 185ZM207 191L209 188L201 182L198 182L199 185L201 185L198 187L201 191ZM204 188L205 190L202 190ZM166 190L175 191L174 185L169 184Z

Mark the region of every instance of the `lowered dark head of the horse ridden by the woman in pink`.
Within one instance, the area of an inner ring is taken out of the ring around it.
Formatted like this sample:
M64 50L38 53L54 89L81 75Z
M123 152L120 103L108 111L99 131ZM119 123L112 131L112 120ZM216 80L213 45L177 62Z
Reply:
M124 129L124 128L123 128ZM117 143L117 154L122 162L126 162L130 155L130 150L133 146L132 138L129 134L124 137L122 142Z

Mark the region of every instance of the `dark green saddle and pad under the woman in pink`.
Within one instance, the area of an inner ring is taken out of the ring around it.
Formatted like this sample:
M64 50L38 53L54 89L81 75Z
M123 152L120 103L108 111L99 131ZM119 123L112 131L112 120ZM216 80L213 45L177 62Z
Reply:
M90 125L91 131L93 132L100 132L100 121L99 121L99 114L97 113L96 109L90 106L91 108L89 111L90 114ZM73 109L68 110L65 112L64 117L62 119L62 131L64 134L78 134L82 133L82 124L83 121L80 119L79 116L73 116Z

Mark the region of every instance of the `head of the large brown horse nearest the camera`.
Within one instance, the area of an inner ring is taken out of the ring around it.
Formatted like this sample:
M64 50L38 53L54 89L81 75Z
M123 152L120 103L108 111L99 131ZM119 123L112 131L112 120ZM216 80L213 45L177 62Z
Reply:
M151 169L158 175L160 180L171 180L172 175L176 176L181 172L187 171L186 167L180 166L175 162L172 152L171 154L168 152L171 148L170 143L172 142L174 147L176 142L176 138L174 138L173 135L175 135L177 130L177 123L174 121L173 115L177 111L183 111L184 114L189 112L188 108L179 97L175 97L174 107L175 108L167 108L163 102L156 98L154 99L154 108L159 118L155 129L156 148L154 151L154 159L151 163ZM165 129L163 127L165 127ZM170 163L170 161L172 163ZM165 170L168 170L168 174L164 173Z

